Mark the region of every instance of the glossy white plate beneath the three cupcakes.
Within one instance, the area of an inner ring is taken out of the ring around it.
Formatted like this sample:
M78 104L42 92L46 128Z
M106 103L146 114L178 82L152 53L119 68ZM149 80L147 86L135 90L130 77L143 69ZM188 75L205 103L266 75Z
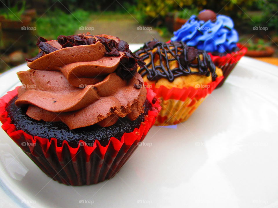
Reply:
M1 96L20 85L15 72L26 69L24 64L0 77ZM144 140L151 146L138 147L114 178L96 185L70 187L51 180L1 129L0 196L9 199L1 203L278 207L277 84L278 67L243 57L188 121L176 129L153 127Z

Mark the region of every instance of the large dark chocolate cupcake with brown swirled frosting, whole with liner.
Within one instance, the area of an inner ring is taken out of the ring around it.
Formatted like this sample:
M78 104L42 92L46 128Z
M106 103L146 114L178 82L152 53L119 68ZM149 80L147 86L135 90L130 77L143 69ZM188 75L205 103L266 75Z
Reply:
M137 72L145 63L108 35L39 38L37 46L30 69L17 73L23 85L0 99L2 128L59 183L110 179L160 110Z

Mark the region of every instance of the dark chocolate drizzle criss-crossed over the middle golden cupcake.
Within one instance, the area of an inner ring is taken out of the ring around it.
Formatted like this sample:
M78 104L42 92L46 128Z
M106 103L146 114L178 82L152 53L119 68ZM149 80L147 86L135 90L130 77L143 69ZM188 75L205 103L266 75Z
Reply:
M156 50L153 51L155 48ZM213 81L217 77L215 65L205 51L189 47L180 41L170 43L149 41L137 50L135 55L142 57L143 61L150 58L150 62L138 70L142 77L147 75L150 81L166 78L169 82L173 82L176 77L194 74L211 75ZM202 55L202 60L200 55ZM159 64L155 64L155 58L159 59ZM173 61L178 62L178 67L171 69ZM192 71L190 68L197 68L198 71Z

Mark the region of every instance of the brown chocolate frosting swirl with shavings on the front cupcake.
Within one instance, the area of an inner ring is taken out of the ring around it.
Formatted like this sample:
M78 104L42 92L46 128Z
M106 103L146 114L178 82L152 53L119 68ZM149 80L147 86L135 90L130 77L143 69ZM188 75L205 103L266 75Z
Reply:
M64 122L69 129L98 124L111 126L118 117L135 120L144 112L146 89L137 84L135 56L128 44L107 35L40 38L41 52L30 59L30 70L18 74L23 87L16 105L28 105L35 120ZM135 87L136 86L136 87Z

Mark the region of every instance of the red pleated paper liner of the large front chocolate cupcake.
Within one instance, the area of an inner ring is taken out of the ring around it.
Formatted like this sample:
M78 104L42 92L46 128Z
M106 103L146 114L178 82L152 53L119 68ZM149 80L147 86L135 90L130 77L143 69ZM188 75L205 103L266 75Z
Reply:
M16 129L11 123L6 106L16 95L17 88L0 98L2 128L45 174L59 183L75 186L99 183L113 177L137 148L138 142L145 138L161 109L155 93L147 89L152 110L145 116L139 129L124 133L120 140L111 137L106 146L102 146L98 140L93 146L87 146L80 140L77 148L69 146L67 141L58 147L55 138L33 137Z

